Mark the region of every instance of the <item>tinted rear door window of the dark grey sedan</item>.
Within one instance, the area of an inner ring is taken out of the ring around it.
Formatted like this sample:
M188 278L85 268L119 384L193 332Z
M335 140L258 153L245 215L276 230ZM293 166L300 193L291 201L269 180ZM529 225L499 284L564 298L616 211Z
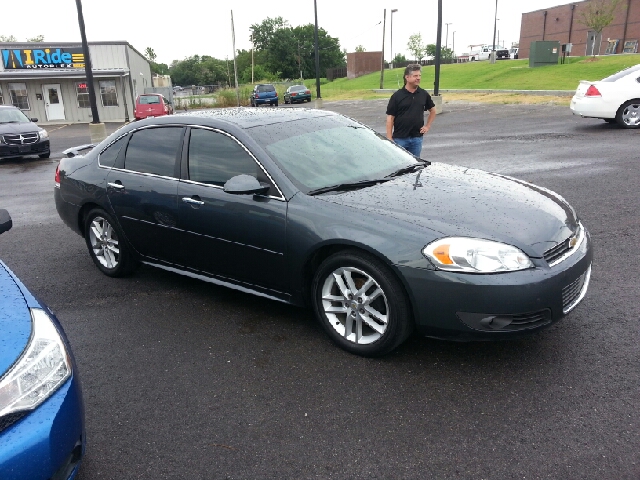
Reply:
M175 176L181 127L147 128L135 132L129 141L124 168L165 177Z

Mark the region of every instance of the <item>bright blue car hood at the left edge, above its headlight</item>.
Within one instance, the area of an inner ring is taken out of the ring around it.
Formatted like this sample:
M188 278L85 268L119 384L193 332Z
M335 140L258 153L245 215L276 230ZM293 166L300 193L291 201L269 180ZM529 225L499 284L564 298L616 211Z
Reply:
M0 261L0 377L20 357L31 337L33 296Z

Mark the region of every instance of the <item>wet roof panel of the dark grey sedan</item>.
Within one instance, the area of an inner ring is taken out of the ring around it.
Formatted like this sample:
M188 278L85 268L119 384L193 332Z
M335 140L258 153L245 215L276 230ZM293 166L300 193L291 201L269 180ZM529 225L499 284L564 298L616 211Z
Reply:
M317 110L311 108L266 109L233 107L177 113L175 115L172 115L171 117L173 117L174 121L182 117L184 118L185 122L192 120L195 123L200 123L203 122L203 120L207 119L218 120L233 124L239 128L244 129L262 125L271 125L274 123L285 123L296 120L330 116L339 116L339 114L326 110ZM169 121L170 119L171 118L166 119L165 121Z

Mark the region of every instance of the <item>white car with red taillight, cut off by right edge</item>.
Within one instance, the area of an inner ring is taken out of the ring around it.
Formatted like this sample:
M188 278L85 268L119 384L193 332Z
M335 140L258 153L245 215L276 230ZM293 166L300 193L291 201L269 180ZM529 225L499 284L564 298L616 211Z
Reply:
M640 128L640 64L597 82L581 80L571 111L623 128Z

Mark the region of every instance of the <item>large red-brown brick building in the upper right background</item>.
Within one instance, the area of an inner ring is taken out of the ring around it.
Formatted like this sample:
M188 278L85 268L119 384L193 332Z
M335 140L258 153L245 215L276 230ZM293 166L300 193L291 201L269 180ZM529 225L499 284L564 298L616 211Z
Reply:
M557 40L561 44L572 43L571 55L586 55L589 29L580 23L580 12L587 4L588 1L574 2L523 13L518 58L529 58L531 42L538 40ZM597 55L605 53L608 38L620 40L614 53L622 53L625 41L640 40L640 0L621 2L615 19L602 31L602 41L595 48Z

